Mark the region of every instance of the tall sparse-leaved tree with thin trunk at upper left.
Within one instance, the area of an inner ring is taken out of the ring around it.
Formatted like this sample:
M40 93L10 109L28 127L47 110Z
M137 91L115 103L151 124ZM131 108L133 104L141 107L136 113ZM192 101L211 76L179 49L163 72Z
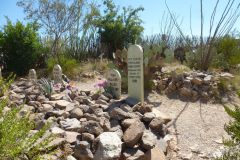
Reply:
M53 38L51 52L58 58L61 38L72 29L82 16L84 0L19 0L27 18L38 22Z

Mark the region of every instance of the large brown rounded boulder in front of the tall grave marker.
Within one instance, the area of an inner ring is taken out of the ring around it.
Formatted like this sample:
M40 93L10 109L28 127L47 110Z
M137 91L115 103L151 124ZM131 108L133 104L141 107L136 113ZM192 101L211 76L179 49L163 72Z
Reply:
M123 134L126 146L133 147L141 139L145 126L141 121L132 124Z

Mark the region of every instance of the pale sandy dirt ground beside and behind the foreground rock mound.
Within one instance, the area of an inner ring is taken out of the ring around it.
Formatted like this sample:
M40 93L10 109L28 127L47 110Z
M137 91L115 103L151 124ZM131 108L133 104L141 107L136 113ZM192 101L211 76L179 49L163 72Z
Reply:
M94 84L101 80L98 77L76 86L80 90L96 90ZM224 125L230 120L223 105L183 102L154 92L146 95L145 100L173 119L169 130L177 149L168 155L169 159L203 160L220 154L222 138L227 138Z

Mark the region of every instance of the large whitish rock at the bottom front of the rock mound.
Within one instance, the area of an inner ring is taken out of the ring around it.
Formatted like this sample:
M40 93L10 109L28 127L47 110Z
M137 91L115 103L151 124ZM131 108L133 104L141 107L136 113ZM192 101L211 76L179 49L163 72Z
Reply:
M98 137L98 149L94 160L118 159L122 151L122 141L115 132L104 132Z

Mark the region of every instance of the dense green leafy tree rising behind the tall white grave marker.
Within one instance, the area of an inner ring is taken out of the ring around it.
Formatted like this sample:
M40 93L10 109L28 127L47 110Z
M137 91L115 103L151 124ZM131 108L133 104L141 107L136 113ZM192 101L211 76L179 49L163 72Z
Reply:
M104 15L96 18L95 25L99 28L101 42L106 45L108 57L111 57L116 49L135 43L140 37L144 28L138 13L143 8L123 7L123 13L119 14L112 0L104 0L103 4L106 6Z

